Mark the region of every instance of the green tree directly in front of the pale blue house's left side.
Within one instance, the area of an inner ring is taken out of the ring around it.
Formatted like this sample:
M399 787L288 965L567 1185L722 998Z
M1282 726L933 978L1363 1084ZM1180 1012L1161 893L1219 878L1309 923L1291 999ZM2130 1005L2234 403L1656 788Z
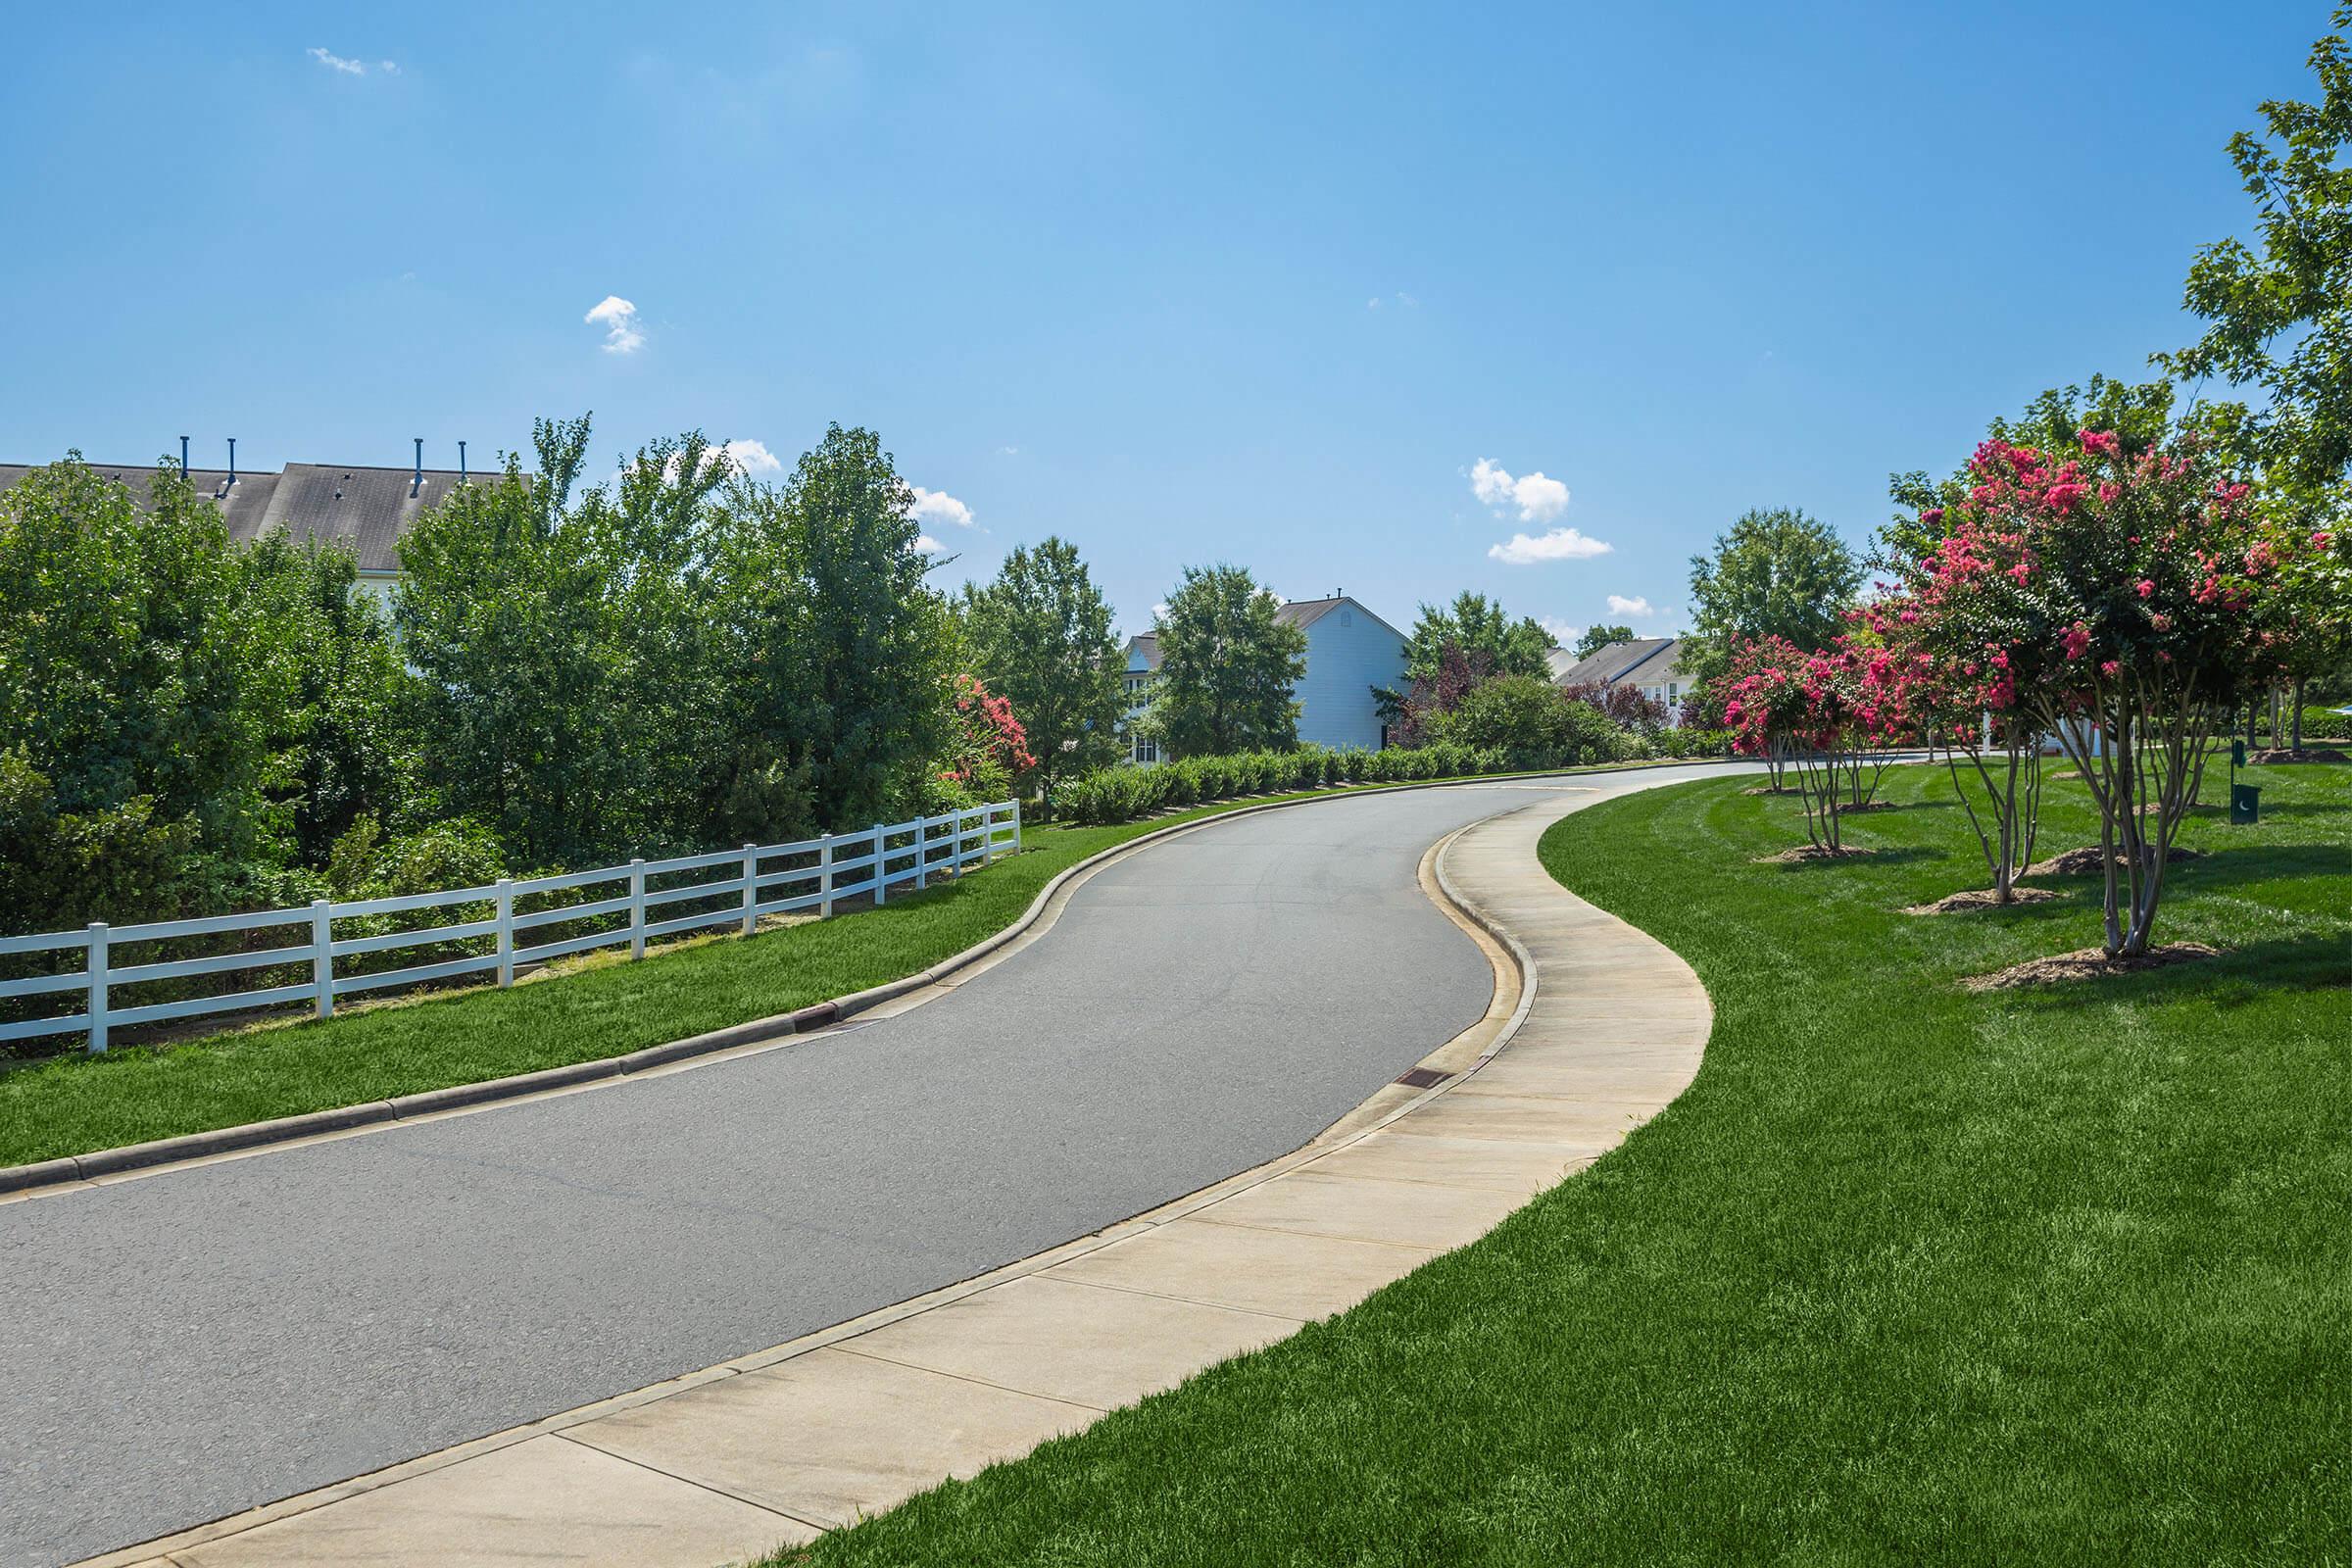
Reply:
M1160 621L1160 679L1145 719L1174 755L1298 743L1291 689L1308 670L1308 635L1277 609L1242 567L1185 567Z

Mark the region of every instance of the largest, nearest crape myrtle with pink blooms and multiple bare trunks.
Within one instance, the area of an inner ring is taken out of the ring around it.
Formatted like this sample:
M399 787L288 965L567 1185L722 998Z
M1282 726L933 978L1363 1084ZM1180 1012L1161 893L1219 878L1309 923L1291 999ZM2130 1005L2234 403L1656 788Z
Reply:
M2209 741L2277 668L2281 545L2249 489L2187 433L2131 454L2082 430L2077 454L1987 440L1973 484L1919 527L1905 569L1922 623L1962 654L1992 712L2023 708L2082 771L2100 813L2105 950L2150 947L2173 837Z

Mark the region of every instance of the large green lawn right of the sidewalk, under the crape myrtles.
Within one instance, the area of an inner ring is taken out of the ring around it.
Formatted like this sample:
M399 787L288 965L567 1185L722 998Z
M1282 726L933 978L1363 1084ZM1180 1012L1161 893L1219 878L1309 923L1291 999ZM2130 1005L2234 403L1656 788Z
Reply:
M2352 771L2201 818L2161 938L2063 992L2096 893L1983 865L1940 771L1776 867L1700 783L1545 865L1715 994L1691 1091L1590 1173L1289 1342L776 1561L2352 1561ZM2218 790L2216 790L2218 795ZM2044 853L2093 842L2053 785Z

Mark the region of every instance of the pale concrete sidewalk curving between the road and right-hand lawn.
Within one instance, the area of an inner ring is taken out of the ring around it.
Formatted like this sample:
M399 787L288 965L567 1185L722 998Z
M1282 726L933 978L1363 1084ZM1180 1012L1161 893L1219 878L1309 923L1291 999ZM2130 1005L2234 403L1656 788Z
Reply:
M1597 795L1545 795L1432 853L1510 947L1479 933L1496 1001L1416 1070L1442 1081L1385 1088L1291 1157L948 1291L89 1561L710 1568L1345 1309L1592 1164L1698 1072L1698 978L1536 858Z

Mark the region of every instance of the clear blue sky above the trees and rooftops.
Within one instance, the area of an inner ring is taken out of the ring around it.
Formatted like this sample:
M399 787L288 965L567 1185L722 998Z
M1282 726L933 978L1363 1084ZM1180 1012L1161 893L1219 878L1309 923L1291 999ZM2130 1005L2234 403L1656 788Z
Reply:
M2249 216L2223 143L2326 31L99 9L12 19L0 461L454 465L593 409L600 465L689 425L790 463L866 423L936 491L938 581L1058 531L1127 630L1232 559L1399 625L1479 588L1665 632L1743 508L1865 541L1889 470L2190 336L2190 256Z

